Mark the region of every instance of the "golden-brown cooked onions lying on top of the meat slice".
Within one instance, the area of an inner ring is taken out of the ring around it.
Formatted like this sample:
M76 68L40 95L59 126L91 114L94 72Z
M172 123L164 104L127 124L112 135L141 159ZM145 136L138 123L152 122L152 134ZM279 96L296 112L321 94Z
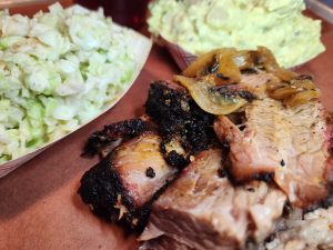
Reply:
M319 89L309 76L299 76L279 66L273 53L259 47L256 51L216 49L199 57L175 80L186 87L195 102L205 111L226 114L243 107L248 101L236 91L226 94L212 91L241 82L243 70L269 72L275 78L266 83L270 98L282 101L287 107L303 104L320 96ZM251 101L251 100L250 100Z

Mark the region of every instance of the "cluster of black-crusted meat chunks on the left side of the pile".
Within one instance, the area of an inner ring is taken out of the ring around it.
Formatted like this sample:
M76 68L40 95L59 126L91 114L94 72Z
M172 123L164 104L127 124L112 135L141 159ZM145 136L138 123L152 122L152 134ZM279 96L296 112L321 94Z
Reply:
M89 138L84 154L103 160L84 173L79 189L95 214L135 232L190 158L218 142L214 116L180 87L153 83L145 107L149 116L105 126Z

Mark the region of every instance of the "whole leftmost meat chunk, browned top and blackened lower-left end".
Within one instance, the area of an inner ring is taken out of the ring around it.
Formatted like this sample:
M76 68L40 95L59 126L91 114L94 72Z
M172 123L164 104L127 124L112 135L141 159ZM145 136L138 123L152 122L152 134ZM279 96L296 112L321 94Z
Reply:
M175 176L160 152L161 138L145 132L113 150L84 173L80 194L93 212L111 221L123 221L139 231L150 204Z

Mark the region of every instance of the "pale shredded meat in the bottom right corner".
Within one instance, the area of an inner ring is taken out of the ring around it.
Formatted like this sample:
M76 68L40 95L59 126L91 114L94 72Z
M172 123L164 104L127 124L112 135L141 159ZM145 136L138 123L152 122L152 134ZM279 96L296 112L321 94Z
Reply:
M291 218L260 250L330 250L333 248L333 207L304 218Z

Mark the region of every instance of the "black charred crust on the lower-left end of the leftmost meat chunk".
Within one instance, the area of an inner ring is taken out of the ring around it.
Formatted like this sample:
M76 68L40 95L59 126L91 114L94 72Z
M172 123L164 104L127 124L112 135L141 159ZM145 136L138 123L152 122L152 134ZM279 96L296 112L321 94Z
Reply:
M120 223L128 232L141 233L148 223L152 202L169 186L169 181L148 202L135 207L113 167L112 158L112 153L109 153L83 174L78 193L84 203L91 206L92 212L99 218L108 222ZM121 197L120 200L119 197ZM120 220L119 202L128 210Z

